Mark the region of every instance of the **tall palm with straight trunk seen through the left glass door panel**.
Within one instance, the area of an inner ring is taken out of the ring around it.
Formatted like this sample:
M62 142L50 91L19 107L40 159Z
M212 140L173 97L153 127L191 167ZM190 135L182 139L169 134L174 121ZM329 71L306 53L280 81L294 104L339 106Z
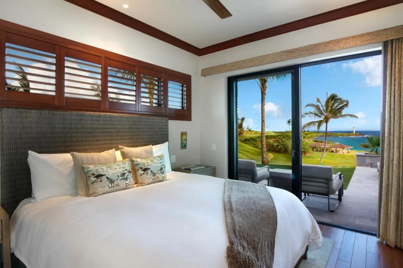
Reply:
M258 83L260 87L260 93L261 93L261 101L260 101L260 112L262 115L262 125L261 125L261 146L262 146L262 164L267 164L269 163L267 159L267 153L266 153L266 112L265 112L265 105L266 105L266 91L269 85L274 81L281 81L284 82L286 80L289 80L291 78L290 74L280 74L280 75L274 75L274 76L267 76L263 78L256 79L255 81Z

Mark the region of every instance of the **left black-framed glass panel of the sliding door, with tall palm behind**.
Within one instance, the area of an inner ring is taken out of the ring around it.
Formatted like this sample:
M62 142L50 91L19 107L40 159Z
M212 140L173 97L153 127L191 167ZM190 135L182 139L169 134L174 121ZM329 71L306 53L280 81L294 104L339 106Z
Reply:
M299 68L228 82L229 178L282 188L301 199Z

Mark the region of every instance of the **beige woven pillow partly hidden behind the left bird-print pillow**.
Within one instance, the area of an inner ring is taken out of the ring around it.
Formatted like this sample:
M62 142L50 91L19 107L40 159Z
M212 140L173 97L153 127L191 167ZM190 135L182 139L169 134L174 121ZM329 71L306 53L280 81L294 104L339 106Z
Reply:
M80 196L88 196L87 176L85 175L82 165L96 165L104 163L116 162L115 149L102 153L70 153L73 157L74 168L76 171L77 189Z

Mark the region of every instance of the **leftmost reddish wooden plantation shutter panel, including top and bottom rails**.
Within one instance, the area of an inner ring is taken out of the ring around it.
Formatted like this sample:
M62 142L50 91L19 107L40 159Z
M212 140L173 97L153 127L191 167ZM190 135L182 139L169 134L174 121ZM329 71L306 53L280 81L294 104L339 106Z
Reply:
M6 100L55 103L56 45L6 33L4 67Z

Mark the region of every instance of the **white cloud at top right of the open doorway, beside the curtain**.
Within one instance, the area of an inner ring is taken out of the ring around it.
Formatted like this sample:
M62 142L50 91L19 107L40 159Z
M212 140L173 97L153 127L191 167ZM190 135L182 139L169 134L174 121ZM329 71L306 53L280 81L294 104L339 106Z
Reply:
M366 85L369 87L380 86L382 76L382 58L381 56L372 56L343 64L343 70L349 69L353 72L360 72L366 76Z

